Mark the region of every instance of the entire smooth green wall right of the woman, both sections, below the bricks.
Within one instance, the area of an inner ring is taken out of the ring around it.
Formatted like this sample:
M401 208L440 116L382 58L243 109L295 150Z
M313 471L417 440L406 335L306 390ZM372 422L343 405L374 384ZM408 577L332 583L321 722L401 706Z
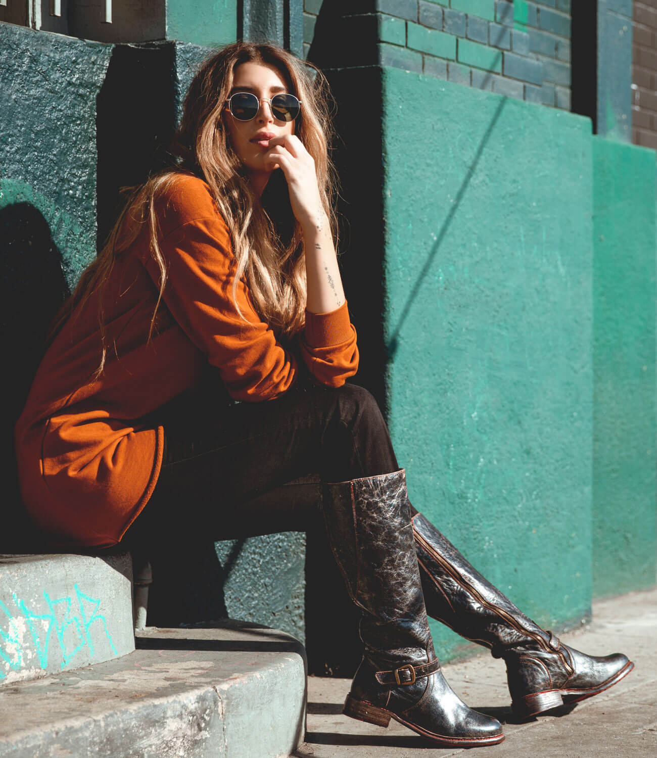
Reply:
M357 378L411 500L547 628L652 586L654 152L402 70L329 77Z

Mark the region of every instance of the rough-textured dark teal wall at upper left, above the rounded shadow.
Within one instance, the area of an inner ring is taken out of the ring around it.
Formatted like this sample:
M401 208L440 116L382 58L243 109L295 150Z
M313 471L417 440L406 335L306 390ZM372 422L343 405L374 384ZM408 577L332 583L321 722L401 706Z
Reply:
M95 255L95 98L111 45L0 23L0 50L0 205L39 209L70 286Z

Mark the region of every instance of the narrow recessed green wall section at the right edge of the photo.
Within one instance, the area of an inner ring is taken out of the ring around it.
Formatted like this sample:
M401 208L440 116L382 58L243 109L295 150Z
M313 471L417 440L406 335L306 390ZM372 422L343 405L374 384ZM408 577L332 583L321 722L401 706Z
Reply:
M655 152L593 139L593 593L655 584Z

